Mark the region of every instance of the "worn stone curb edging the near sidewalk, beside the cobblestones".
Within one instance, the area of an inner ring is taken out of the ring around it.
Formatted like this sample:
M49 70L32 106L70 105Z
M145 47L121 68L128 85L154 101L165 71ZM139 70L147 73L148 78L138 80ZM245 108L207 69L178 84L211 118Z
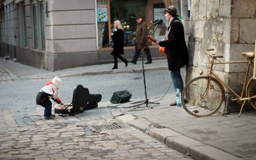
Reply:
M112 115L116 114L112 113ZM132 127L149 134L153 138L156 138L156 140L165 143L168 147L171 147L186 156L190 156L195 160L241 159L233 156L232 154L228 154L223 150L211 147L210 145L206 145L205 143L184 136L178 132L173 131L172 129L163 128L162 126L156 125L144 118L122 114L120 114L120 116L116 115L115 118L116 120L120 120L121 122L127 123Z

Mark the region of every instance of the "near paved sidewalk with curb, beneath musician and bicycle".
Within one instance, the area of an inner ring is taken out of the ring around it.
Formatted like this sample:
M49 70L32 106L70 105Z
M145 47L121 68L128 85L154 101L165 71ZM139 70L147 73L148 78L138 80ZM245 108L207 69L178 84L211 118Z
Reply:
M120 108L116 119L146 132L192 159L256 159L256 111L196 118L183 108L169 106L175 94L159 107L140 111Z

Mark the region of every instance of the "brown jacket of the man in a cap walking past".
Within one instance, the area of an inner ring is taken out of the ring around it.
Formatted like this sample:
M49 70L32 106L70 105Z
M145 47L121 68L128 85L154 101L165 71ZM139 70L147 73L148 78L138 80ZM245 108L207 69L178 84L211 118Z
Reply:
M136 49L143 49L147 44L148 27L146 22L142 21L136 29ZM148 45L146 47L148 49Z

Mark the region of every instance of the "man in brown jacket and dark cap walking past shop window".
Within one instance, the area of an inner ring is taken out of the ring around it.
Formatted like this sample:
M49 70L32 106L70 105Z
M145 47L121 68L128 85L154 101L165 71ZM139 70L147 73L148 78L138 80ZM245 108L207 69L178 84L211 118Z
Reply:
M138 26L136 28L136 45L135 45L135 52L134 56L132 57L131 63L134 63L134 65L137 63L137 60L140 56L141 49L145 47L147 44L147 36L148 36L148 28L146 22L143 20L143 17L141 15L136 14L134 16L134 19L136 19ZM145 47L144 52L147 55L147 62L145 64L152 63L152 58L150 54L150 50L148 49L148 44Z

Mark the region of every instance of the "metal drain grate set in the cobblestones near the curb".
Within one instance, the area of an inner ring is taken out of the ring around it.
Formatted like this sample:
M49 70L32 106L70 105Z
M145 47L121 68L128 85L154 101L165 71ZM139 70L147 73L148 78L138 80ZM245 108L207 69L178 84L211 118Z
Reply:
M93 134L99 133L101 131L111 131L115 129L122 129L124 126L119 123L106 124L106 125L86 125L82 127L84 132Z

